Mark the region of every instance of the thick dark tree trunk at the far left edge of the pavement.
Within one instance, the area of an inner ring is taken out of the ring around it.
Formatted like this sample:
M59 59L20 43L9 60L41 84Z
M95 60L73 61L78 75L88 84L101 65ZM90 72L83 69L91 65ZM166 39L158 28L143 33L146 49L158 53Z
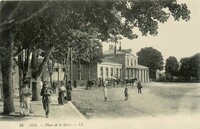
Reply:
M15 111L14 109L14 89L13 89L13 41L14 35L10 31L2 34L2 41L5 42L5 57L1 62L2 79L3 79L3 113L8 115Z

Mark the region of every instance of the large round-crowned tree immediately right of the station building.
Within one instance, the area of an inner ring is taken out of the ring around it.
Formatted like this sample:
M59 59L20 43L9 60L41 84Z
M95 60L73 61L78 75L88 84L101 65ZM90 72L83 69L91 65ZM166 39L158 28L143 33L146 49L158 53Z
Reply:
M145 47L137 52L138 64L149 67L149 76L152 79L156 77L156 70L163 69L163 56L161 52L152 48Z

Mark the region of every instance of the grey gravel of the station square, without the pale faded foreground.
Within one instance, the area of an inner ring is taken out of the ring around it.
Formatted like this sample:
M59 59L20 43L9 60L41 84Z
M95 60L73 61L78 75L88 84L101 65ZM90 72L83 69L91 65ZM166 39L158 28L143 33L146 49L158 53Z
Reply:
M73 103L88 119L156 117L176 114L185 94L199 89L198 83L147 83L142 94L129 87L129 100L124 101L124 87L108 88L108 101L104 102L103 88L72 92Z

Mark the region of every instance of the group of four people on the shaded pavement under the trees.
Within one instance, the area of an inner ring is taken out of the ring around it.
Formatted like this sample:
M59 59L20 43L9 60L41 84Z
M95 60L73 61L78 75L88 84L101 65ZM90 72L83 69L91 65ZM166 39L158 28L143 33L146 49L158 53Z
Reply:
M49 111L50 111L50 103L51 103L51 95L53 93L52 88L49 86L49 82L41 82L41 91L40 95L42 96L42 104L43 109L45 111L45 116L48 118ZM61 86L59 87L59 93L58 98L60 98L61 92L67 92L67 101L71 100L71 82L68 82L67 89L64 86L64 83L61 83ZM30 101L32 96L32 91L30 88L30 81L24 81L22 88L20 90L20 115L21 116L27 116L30 113L33 113ZM54 92L55 93L55 92Z

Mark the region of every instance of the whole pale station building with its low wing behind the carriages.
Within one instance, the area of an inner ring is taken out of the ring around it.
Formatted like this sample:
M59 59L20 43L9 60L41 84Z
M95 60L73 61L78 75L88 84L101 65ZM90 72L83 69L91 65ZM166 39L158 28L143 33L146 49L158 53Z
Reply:
M115 47L110 46L103 54L103 62L83 65L81 75L79 68L73 67L73 79L93 80L117 77L122 80L137 78L142 82L149 82L148 67L138 64L138 57L132 54L131 49L116 50Z

